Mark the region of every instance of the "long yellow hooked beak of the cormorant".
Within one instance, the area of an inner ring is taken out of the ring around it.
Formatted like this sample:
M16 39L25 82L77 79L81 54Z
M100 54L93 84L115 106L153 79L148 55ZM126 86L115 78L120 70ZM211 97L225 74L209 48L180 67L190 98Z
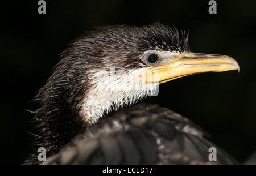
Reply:
M165 83L192 74L210 71L238 70L236 60L226 55L176 53L167 57L158 66L148 68L146 71L147 83Z

